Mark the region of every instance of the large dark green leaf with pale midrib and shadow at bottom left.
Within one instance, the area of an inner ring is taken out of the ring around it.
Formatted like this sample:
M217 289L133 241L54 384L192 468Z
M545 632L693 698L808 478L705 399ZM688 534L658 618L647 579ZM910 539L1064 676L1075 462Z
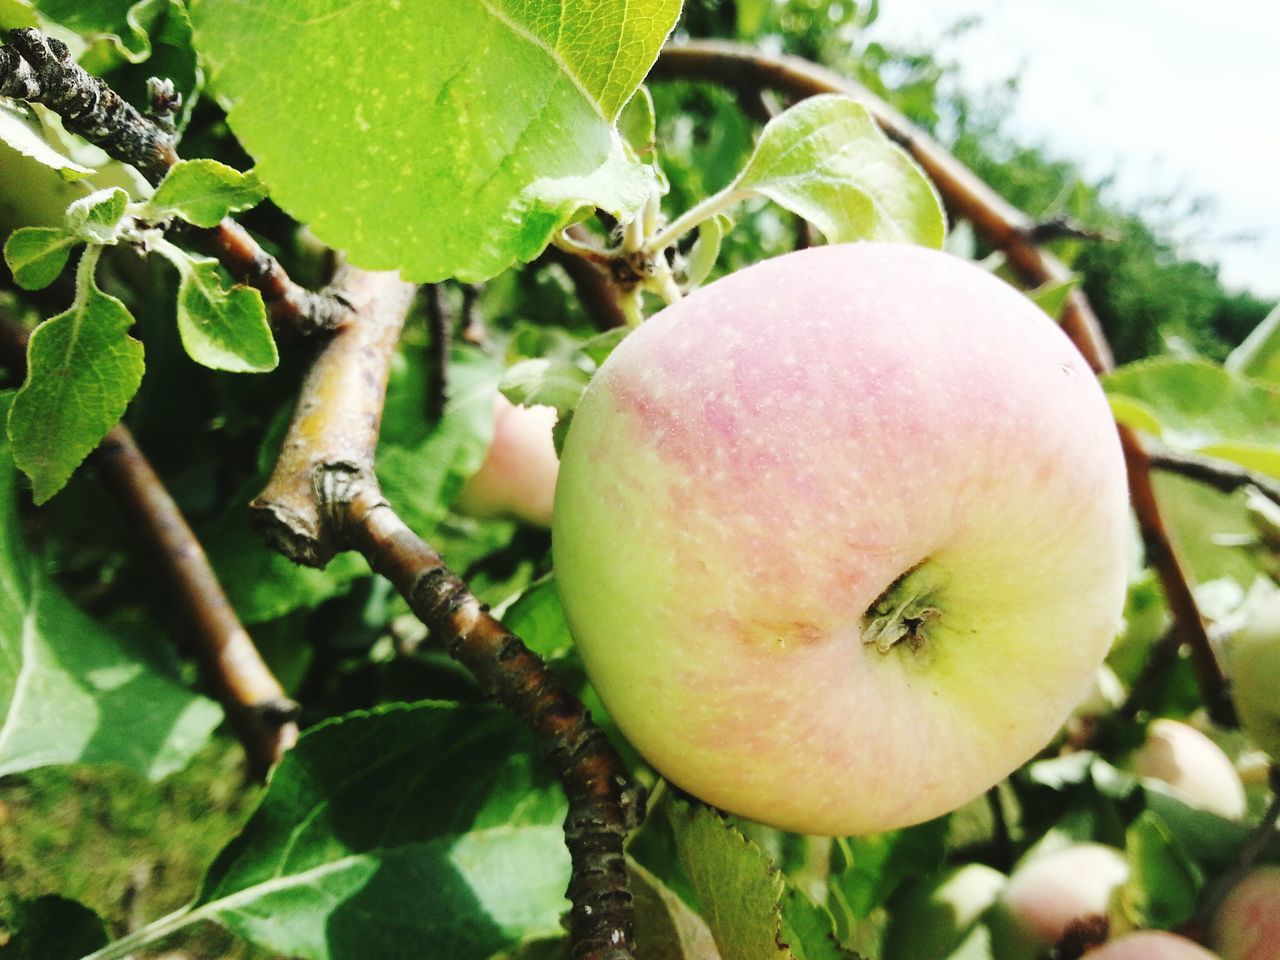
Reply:
M556 936L564 801L540 769L515 722L486 707L397 705L315 727L183 924L215 920L308 960L424 945L475 960Z

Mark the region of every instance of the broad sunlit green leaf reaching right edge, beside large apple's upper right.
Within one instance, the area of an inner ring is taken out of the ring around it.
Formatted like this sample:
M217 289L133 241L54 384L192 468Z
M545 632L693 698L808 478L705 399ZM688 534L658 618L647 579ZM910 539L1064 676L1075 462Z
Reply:
M1172 449L1280 476L1280 389L1174 357L1123 366L1103 387L1116 420Z

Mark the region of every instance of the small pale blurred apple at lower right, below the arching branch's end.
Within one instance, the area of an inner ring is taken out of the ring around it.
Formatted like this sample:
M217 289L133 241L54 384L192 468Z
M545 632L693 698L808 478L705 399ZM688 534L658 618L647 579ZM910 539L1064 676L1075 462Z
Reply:
M1134 755L1143 777L1169 783L1196 806L1238 820L1244 815L1244 783L1222 749L1194 727L1157 719Z

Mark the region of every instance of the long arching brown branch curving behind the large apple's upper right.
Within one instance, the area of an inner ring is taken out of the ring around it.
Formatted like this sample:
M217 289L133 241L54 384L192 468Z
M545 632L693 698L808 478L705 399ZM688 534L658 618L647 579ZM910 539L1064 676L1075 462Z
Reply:
M740 44L698 41L668 45L649 77L700 79L735 90L769 87L796 99L817 93L851 96L867 106L891 140L915 157L937 186L952 216L969 220L988 243L1001 250L1024 283L1039 287L1071 276L1065 264L1033 242L1036 221L1032 218L1001 197L946 147L892 106L835 70L795 56L771 56ZM1115 367L1102 325L1080 289L1073 289L1068 296L1061 324L1094 372L1102 374ZM1120 426L1119 431L1133 509L1181 641L1190 648L1201 696L1216 722L1234 726L1226 678L1210 644L1190 582L1178 559L1151 486L1147 451L1133 430Z

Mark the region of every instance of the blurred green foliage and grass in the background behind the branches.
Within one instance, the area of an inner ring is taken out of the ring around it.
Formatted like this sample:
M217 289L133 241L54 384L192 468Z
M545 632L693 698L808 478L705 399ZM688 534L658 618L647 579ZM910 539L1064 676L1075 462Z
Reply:
M877 10L876 3L850 0L686 0L678 31L795 54L852 76L1033 218L1069 216L1097 232L1100 239L1056 241L1053 250L1082 275L1121 362L1157 353L1221 361L1262 320L1270 303L1225 289L1212 264L1185 259L1171 239L1194 229L1207 214L1203 205L1153 196L1121 206L1106 180L1087 180L1046 146L1015 142L1006 133L1004 116L1018 96L1016 78L998 88L966 91L957 67L931 51L868 40ZM147 67L113 56L110 45L93 45L88 52L93 68L124 90L136 88ZM741 168L759 127L760 104L684 83L655 84L653 95L660 160L671 183L666 206L680 211ZM183 151L188 157L250 165L207 97L195 108ZM243 220L292 273L323 275L323 255L278 209L264 204ZM5 232L14 225L4 224ZM805 229L776 206L749 204L726 237L717 270L732 271L791 250L805 239ZM973 256L989 253L963 227L954 230L954 243L969 244L961 252ZM212 559L255 639L289 692L305 704L303 724L389 700L479 700L470 677L422 644L422 631L403 602L361 564L301 573L248 534L244 504L273 460L307 351L285 347L282 370L269 378L195 367L184 360L166 314L172 293L154 296L156 289L172 289L174 279L165 268L115 257L101 282L131 305L147 347L148 371L128 422L197 531L210 536ZM19 298L12 284L0 284L0 298L28 315L51 315L67 293L65 285L55 284ZM594 333L568 276L550 259L495 278L477 292L474 305L456 284L447 284L444 294L458 330L465 307L474 306L468 329L480 346L467 347L454 361L454 376L468 381L483 379L495 364L571 349ZM485 438L471 434L451 442L442 461L442 447L433 440L440 431L424 431L431 376L425 317L419 308L393 372L380 479L420 532L440 545L451 564L500 611L548 570L549 538L448 509L457 492L451 471L474 460ZM6 385L13 384L0 381L0 388ZM488 389L494 389L492 383ZM1187 485L1184 503L1190 504L1187 512L1204 518L1203 529L1196 527L1204 534L1203 543L1224 525L1240 522L1240 511L1226 509L1226 498L1217 494ZM180 613L166 605L165 591L156 589L157 571L92 470L82 470L49 508L29 512L27 522L64 588L93 616L172 637L182 648ZM1207 547L1194 562L1216 576L1225 571L1219 562L1224 556L1226 548ZM1238 579L1252 571L1245 564ZM264 594L273 599L270 608L255 605ZM1160 594L1149 577L1130 596L1132 608L1143 605L1142 616L1130 609L1130 628L1121 637L1132 663L1142 662L1164 630ZM561 667L580 684L570 660ZM1185 713L1194 707L1194 698L1188 698L1189 672L1185 664L1169 669L1167 682L1153 686L1165 700L1146 705L1157 713ZM1129 733L1117 728L1115 736ZM159 790L97 769L32 771L0 781L0 891L18 897L64 892L97 910L116 931L177 906L252 806L256 790L239 780L236 759L234 742L223 737ZM980 852L992 842L989 812L980 804L954 824L960 824L954 828L973 850ZM758 840L765 846L782 842ZM211 933L186 948L192 956L227 956L229 942L225 934ZM244 945L232 950L236 956L261 955Z

